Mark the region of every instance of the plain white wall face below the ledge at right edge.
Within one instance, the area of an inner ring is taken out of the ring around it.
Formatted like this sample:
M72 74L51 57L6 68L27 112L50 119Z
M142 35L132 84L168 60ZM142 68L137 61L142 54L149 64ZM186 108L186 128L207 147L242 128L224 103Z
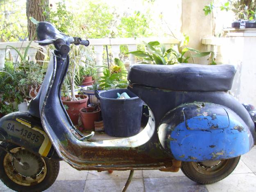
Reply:
M222 45L222 58L237 69L231 94L256 106L256 36L229 37Z

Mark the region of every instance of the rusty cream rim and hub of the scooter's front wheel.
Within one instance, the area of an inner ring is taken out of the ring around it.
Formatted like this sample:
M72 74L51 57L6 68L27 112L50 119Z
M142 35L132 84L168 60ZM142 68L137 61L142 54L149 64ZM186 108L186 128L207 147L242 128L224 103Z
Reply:
M35 156L23 147L11 149L11 152L17 160L7 153L3 162L5 172L11 181L24 186L36 185L43 181L47 173L43 158Z

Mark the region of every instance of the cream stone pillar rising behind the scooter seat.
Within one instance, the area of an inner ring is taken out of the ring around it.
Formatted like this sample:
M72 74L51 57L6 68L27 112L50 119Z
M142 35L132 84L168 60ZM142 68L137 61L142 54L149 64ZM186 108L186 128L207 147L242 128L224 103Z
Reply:
M189 36L188 47L207 51L207 45L202 45L202 38L213 36L213 14L204 15L204 6L211 0L182 0L182 27L181 32ZM208 64L208 57L194 58L195 63ZM189 60L192 62L192 60Z

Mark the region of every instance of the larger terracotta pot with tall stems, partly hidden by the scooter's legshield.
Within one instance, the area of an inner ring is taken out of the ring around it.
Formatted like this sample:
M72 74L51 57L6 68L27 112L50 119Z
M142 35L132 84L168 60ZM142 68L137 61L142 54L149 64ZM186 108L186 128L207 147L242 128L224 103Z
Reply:
M87 107L87 101L88 101L88 96L86 95L75 95L75 97L81 98L78 101L67 101L65 97L61 98L64 99L62 100L62 103L64 105L68 106L68 116L70 117L71 121L73 124L77 125L78 124L78 118L79 118L79 110L80 108Z

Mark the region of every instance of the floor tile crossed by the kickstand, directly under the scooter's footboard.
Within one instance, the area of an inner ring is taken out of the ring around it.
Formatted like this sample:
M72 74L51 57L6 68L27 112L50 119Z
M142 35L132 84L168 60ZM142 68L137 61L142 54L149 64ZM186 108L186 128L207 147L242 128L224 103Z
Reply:
M113 171L113 173L109 174L107 171L97 172L97 171L89 171L87 180L92 179L127 179L130 174L130 171ZM134 171L133 178L143 178L142 171Z

